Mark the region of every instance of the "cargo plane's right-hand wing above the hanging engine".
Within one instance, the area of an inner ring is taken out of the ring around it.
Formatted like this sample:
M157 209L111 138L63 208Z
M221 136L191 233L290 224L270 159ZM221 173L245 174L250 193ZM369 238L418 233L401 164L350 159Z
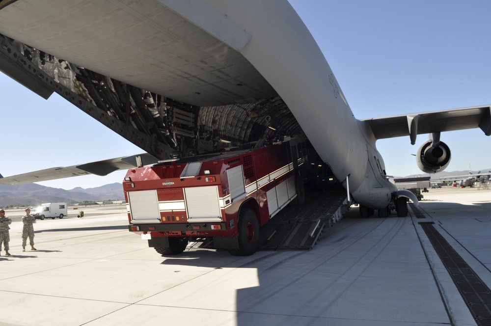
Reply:
M416 135L481 128L491 135L491 106L421 112L384 118L362 120L376 139L410 136L414 145Z

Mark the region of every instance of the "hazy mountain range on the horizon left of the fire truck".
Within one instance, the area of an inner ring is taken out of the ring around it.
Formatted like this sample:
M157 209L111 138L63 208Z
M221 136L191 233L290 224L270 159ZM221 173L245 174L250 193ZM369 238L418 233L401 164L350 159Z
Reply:
M97 188L72 190L45 187L38 184L19 186L0 185L0 206L37 205L53 202L81 202L84 200L124 200L123 185L113 183Z

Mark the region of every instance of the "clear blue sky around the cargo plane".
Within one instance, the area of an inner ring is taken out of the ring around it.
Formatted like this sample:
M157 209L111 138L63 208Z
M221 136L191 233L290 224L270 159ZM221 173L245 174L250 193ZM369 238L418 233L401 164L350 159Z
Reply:
M491 104L491 1L290 0L327 58L355 117L366 119ZM142 152L54 94L48 101L0 74L4 176ZM420 173L427 138L377 142L388 174ZM480 129L443 133L447 171L491 167ZM40 184L63 189L121 182L125 172Z

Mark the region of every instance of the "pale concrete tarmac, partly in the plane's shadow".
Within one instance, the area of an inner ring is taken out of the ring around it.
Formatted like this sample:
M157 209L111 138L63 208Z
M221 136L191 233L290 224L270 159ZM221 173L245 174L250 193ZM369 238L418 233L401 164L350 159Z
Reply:
M491 286L491 191L423 194L424 218L361 219L353 207L311 251L249 257L163 257L127 231L124 206L38 220L36 251L22 252L15 221L0 325L476 325L418 223L435 222Z

